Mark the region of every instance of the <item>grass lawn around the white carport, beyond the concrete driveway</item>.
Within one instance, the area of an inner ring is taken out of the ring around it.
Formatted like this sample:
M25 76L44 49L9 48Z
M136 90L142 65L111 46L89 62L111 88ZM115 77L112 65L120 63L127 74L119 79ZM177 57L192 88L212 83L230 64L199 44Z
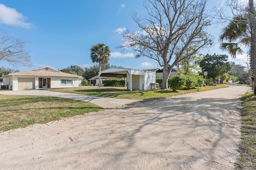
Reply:
M173 92L172 90L126 90L124 87L101 87L100 90L98 86L79 86L77 88L51 88L45 89L48 91L54 92L64 92L64 93L73 93L73 94L83 94L89 96L100 96L106 98L118 98L118 99L136 99L136 100L146 100L146 99L157 99L157 98L170 98L172 96L213 90L218 88L225 88L227 86L206 86L200 87L192 90L177 90Z

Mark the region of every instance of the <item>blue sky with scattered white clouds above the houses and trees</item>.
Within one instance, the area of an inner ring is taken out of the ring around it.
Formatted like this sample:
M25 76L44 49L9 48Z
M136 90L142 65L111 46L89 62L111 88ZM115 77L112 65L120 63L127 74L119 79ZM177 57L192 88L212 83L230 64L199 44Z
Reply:
M70 65L82 68L93 66L96 63L90 60L90 47L97 43L105 43L110 48L111 65L135 69L157 68L156 61L152 59L134 59L134 51L120 53L122 49L116 48L122 43L122 30L138 29L132 20L132 13L145 15L143 2L144 0L0 0L0 29L8 35L28 41L26 50L33 65L18 66L16 69L20 71L44 66L55 69ZM213 5L222 2L224 0L211 1L208 4L209 11ZM209 32L216 37L220 29L220 25L211 25ZM227 54L218 49L217 39L215 43L202 53ZM241 59L246 59L246 54L238 56L236 61ZM1 61L0 66L14 68Z

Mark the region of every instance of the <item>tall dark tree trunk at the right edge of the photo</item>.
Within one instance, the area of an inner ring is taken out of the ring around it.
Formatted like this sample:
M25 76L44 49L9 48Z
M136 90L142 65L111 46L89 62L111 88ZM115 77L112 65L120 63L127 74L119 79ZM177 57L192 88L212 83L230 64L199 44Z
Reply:
M250 31L251 31L251 57L252 57L252 76L254 78L254 80L252 81L253 83L253 94L255 96L255 92L256 92L256 78L255 78L255 74L256 74L256 35L255 35L255 23L256 23L256 19L255 19L255 15L254 15L254 4L253 4L253 0L249 0L249 7L250 7Z

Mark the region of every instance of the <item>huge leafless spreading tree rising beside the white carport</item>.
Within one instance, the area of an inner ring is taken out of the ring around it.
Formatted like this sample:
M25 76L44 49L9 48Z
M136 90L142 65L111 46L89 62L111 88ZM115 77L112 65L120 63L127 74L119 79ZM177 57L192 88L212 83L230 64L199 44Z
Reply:
M147 0L144 8L147 18L133 15L142 31L126 30L122 34L125 42L120 47L135 50L136 57L156 60L163 67L161 89L168 90L172 68L211 44L206 33L210 24L205 14L206 0ZM194 49L183 55L189 45Z

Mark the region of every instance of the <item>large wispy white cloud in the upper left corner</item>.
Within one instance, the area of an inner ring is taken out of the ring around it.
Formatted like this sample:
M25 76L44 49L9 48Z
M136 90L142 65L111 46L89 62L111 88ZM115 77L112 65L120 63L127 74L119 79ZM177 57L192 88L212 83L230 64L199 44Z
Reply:
M14 8L6 7L0 4L0 24L20 26L26 29L33 27L32 23L26 23L27 17L17 12Z

